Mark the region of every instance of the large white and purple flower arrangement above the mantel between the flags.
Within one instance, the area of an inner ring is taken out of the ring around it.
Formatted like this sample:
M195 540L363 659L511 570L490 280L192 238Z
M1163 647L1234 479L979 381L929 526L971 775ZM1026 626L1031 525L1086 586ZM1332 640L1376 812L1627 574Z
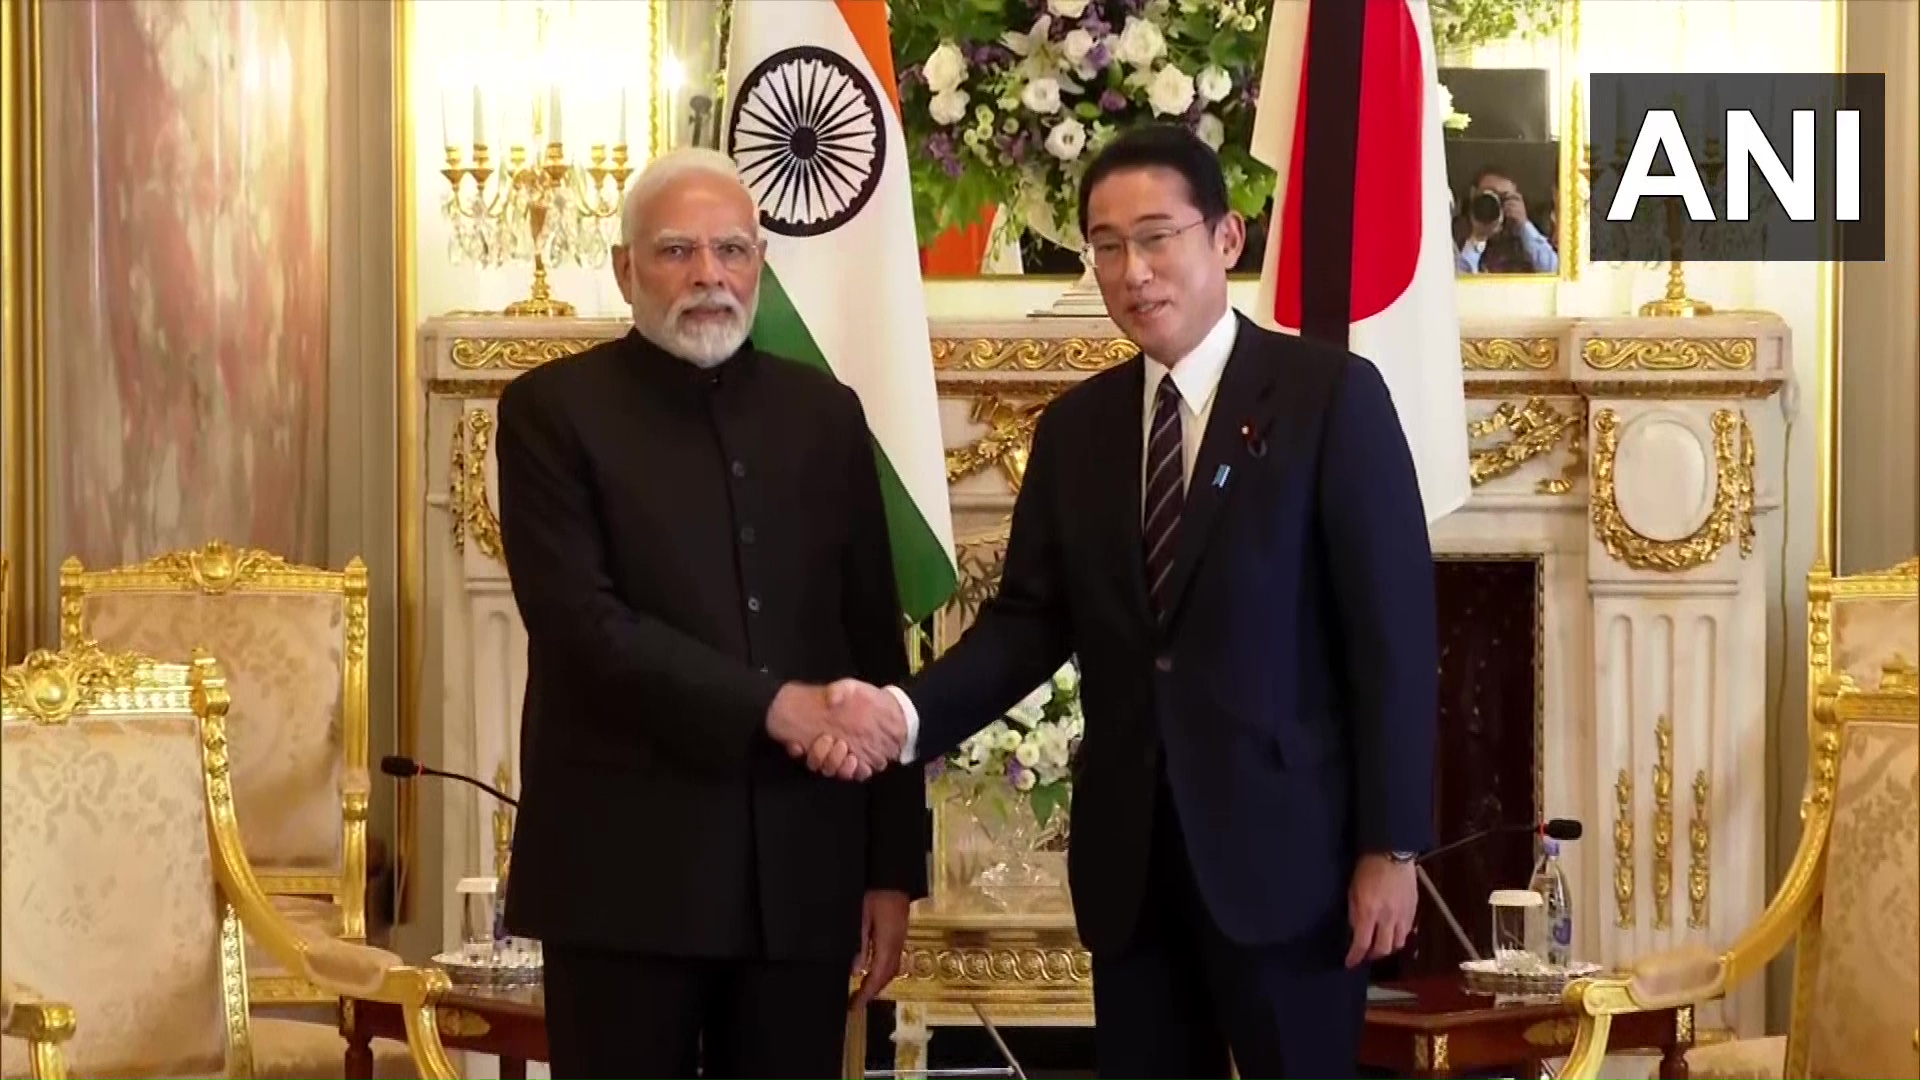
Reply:
M1273 194L1254 102L1273 0L891 0L920 242L1006 208L1079 250L1079 179L1121 129L1219 150L1235 209Z

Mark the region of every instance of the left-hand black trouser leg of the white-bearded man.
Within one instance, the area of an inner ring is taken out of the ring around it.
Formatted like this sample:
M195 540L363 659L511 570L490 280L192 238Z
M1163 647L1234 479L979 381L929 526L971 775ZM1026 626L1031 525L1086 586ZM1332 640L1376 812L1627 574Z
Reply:
M693 1080L707 961L557 945L543 953L553 1080Z

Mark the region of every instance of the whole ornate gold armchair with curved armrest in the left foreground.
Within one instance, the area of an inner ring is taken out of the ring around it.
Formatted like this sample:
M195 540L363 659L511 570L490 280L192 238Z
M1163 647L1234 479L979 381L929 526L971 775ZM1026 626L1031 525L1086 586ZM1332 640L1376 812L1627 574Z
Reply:
M434 1015L445 974L290 922L261 892L234 809L227 709L205 651L167 665L83 642L0 675L0 978L71 1003L63 1015L13 1003L8 1032L42 1045L29 1068L0 1042L0 1074L48 1074L44 1043L58 1036L79 1076L338 1068L338 1032L248 1013L252 936L332 995L401 1005L409 1072L451 1080Z

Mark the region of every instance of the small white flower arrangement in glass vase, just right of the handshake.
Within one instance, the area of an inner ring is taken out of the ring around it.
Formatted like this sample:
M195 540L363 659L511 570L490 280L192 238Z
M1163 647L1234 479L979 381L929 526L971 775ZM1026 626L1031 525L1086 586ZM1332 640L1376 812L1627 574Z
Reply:
M973 738L947 755L941 771L975 796L1012 794L1027 801L1041 828L1058 828L1056 813L1073 792L1071 763L1087 719L1079 669L1069 661Z

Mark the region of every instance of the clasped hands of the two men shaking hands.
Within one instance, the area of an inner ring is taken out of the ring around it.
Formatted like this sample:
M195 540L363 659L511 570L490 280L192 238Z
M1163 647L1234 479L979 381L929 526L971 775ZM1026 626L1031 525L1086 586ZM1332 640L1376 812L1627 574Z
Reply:
M900 761L906 715L893 694L858 678L787 682L766 709L766 734L822 776L866 780Z

